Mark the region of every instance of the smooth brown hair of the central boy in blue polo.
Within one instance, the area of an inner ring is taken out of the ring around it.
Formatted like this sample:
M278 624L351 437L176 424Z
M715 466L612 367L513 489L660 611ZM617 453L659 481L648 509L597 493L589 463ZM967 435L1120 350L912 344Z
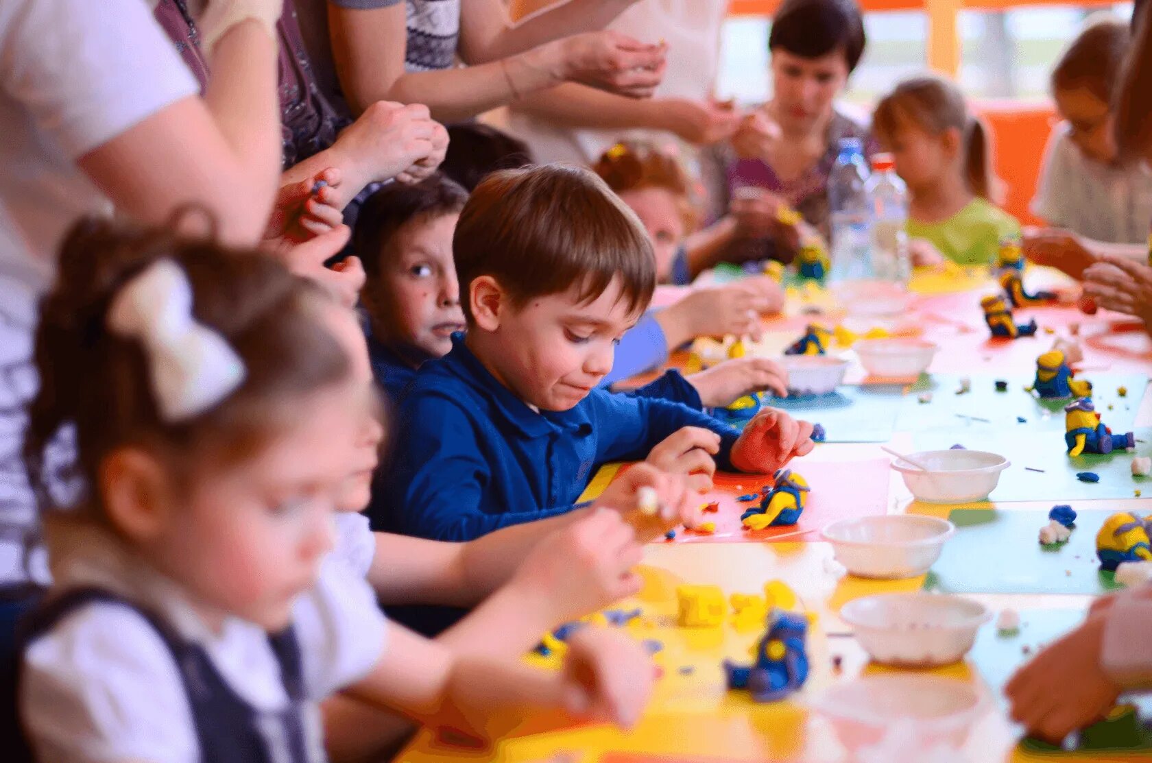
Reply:
M460 213L452 250L469 323L470 287L480 275L495 278L518 305L573 286L591 302L620 278L621 299L638 312L655 288L652 244L636 214L594 173L571 165L485 177Z

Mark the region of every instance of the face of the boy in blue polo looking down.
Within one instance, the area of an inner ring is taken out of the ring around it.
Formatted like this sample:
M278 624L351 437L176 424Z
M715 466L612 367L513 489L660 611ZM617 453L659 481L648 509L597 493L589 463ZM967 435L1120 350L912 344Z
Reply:
M573 287L520 307L503 295L492 311L473 304L469 345L497 379L541 410L568 410L586 398L639 317L620 299L620 279L592 302L581 304L578 293Z

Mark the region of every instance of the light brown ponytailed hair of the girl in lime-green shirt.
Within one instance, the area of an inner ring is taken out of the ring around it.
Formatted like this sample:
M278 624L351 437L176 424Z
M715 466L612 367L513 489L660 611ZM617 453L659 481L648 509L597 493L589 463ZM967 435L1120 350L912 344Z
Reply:
M964 146L964 181L976 196L991 199L998 184L992 173L987 128L968 111L964 95L955 83L935 75L910 77L877 104L872 131L889 142L909 120L929 135L956 129Z

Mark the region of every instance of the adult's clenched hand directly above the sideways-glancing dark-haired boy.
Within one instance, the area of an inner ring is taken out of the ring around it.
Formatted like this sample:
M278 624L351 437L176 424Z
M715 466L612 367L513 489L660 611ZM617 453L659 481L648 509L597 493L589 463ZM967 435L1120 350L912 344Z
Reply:
M351 196L371 182L427 176L444 160L448 137L427 106L378 100L348 126L329 150L338 158ZM350 201L350 197L349 197Z

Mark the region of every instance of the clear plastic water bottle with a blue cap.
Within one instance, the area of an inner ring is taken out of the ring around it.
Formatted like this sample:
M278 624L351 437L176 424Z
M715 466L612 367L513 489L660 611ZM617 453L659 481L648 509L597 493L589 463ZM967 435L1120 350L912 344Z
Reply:
M865 183L869 179L864 145L859 138L842 138L836 163L828 175L828 209L832 222L832 259L828 281L872 278L872 207Z

